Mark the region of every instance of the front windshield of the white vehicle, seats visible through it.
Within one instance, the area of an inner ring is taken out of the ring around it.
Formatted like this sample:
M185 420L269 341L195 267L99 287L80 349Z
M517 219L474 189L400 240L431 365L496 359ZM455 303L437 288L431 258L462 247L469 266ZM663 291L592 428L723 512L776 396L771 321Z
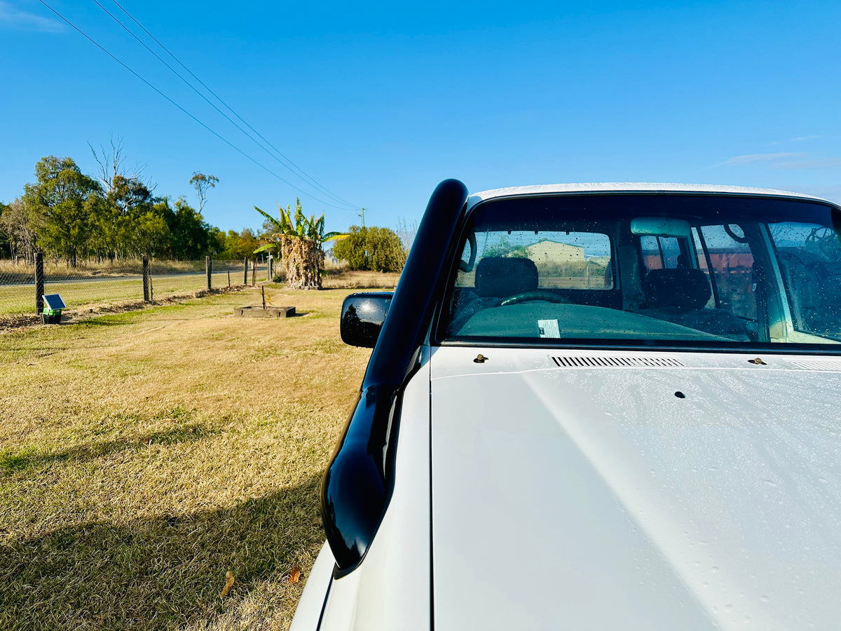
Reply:
M834 345L841 342L838 225L837 209L796 199L492 200L469 218L442 337Z

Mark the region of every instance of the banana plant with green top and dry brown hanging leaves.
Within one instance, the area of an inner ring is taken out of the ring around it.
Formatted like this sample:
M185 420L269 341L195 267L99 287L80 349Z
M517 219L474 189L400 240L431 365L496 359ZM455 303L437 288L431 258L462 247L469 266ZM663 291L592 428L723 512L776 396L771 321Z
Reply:
M286 280L292 289L321 289L321 270L324 268L325 241L341 239L345 235L339 232L324 231L324 214L319 219L315 215L304 216L301 200L295 199L295 213L291 214L289 207L283 209L278 204L280 218L254 207L263 215L276 230L268 237L268 242L258 247L255 252L270 250L280 251L283 267L286 268Z

